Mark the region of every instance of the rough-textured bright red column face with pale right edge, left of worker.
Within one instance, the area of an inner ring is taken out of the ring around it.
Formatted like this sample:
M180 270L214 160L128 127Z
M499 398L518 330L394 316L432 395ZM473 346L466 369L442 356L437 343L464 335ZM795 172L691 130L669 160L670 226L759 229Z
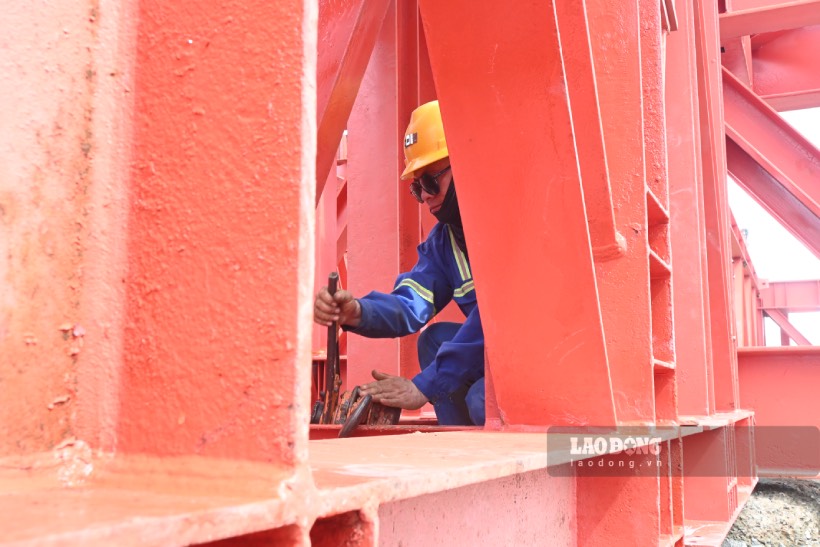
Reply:
M121 451L306 458L311 6L139 4Z

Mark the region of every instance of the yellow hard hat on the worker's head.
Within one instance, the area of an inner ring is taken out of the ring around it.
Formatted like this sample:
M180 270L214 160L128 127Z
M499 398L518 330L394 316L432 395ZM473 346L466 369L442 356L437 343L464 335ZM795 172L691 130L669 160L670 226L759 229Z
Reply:
M419 106L410 115L410 124L404 132L405 167L402 180L411 178L415 171L449 155L438 101Z

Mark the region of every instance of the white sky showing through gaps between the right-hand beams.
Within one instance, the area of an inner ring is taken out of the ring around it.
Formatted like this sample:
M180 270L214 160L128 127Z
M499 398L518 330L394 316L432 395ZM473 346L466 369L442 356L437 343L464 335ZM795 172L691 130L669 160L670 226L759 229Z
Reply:
M820 148L820 108L781 112L781 117L814 146ZM729 206L741 232L746 234L757 276L769 281L820 279L820 259L797 241L754 199L729 179ZM820 312L796 313L789 321L814 345L820 345ZM766 345L780 345L780 329L765 321Z

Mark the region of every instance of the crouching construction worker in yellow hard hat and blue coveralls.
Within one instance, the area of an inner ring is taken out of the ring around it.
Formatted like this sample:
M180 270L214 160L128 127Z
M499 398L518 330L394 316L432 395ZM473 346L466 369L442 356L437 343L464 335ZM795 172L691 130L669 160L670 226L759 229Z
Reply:
M419 337L421 372L412 380L373 371L375 382L361 386L363 395L387 406L417 409L433 404L440 425L484 424L484 333L453 171L438 101L419 106L404 135L405 169L410 192L438 219L418 246L418 261L399 275L389 294L371 292L354 298L327 287L316 295L314 319L320 325L338 321L349 332L370 338L393 338L421 330L451 300L464 323L437 322Z

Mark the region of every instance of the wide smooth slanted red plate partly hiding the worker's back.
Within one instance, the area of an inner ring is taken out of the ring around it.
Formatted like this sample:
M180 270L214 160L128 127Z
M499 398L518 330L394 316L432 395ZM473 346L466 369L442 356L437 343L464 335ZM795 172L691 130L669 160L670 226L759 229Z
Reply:
M614 423L555 16L544 17L552 7L419 5L465 231L476 242L470 262L501 418ZM502 181L521 184L509 191Z

